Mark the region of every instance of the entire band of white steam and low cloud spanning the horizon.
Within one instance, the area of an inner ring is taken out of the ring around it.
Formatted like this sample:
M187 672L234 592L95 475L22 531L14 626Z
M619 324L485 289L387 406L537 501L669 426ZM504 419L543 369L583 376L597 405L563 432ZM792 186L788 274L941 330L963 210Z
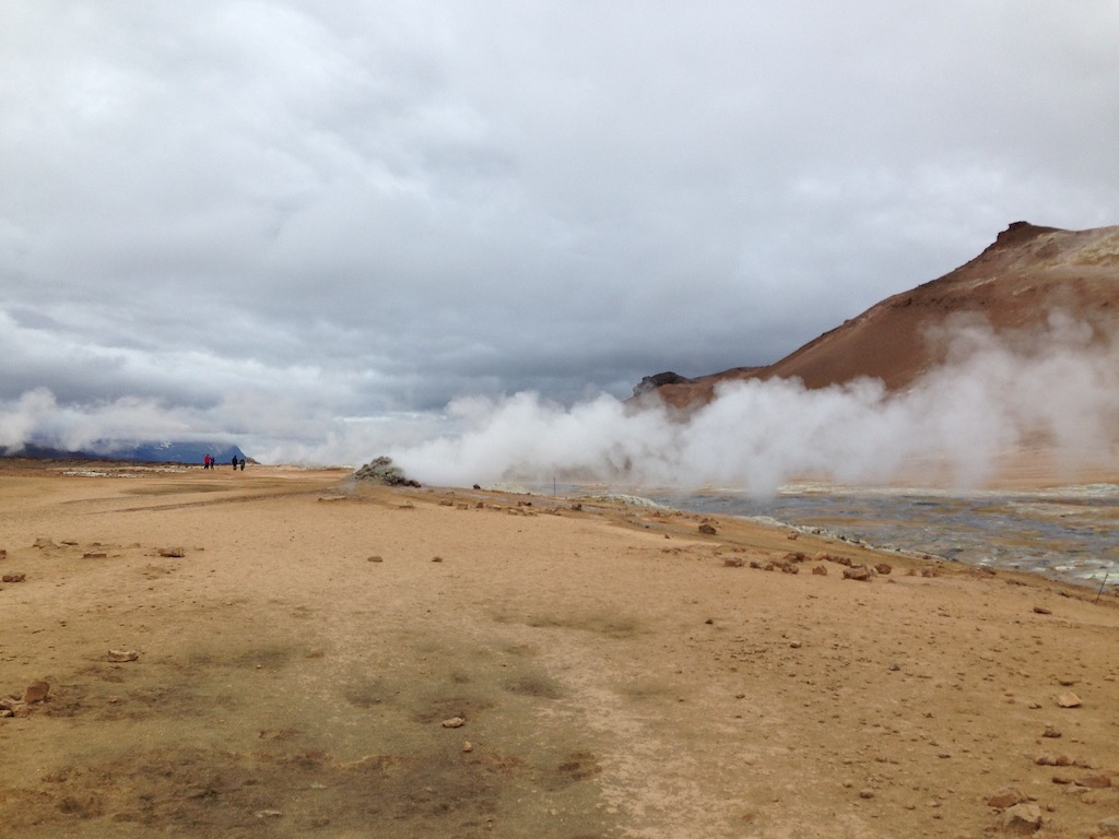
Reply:
M759 496L793 478L887 482L929 459L938 483L971 488L1022 446L1046 447L1070 477L1115 462L1116 341L1060 318L1028 338L996 340L972 326L938 340L950 347L949 362L905 393L868 379L812 390L797 380L741 381L687 415L610 395L565 406L519 393L460 398L443 413L338 417L263 392L200 409L144 399L63 405L39 388L0 404L0 449L213 440L263 463L357 465L389 454L429 484L561 479Z

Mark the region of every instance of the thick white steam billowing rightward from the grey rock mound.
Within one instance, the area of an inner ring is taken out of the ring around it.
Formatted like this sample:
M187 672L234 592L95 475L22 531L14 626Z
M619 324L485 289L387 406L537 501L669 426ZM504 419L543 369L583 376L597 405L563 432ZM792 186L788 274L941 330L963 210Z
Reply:
M974 487L997 456L1038 445L1069 468L1112 459L1119 358L1111 341L1055 318L1034 340L956 327L949 362L902 394L877 380L806 389L797 380L726 384L681 416L603 396L571 408L535 394L460 399L467 428L393 452L429 483L574 478L768 494L791 479L883 482L934 460L939 479Z

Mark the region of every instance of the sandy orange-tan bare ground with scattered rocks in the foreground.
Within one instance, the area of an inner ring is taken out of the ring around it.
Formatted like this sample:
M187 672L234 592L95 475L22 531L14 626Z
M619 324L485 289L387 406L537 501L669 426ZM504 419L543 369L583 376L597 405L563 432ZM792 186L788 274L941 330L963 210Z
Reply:
M0 585L0 695L49 685L0 705L3 837L980 837L1014 813L1091 837L1119 817L1112 595L341 471L65 471L0 466L0 573L26 575ZM791 552L799 573L763 569ZM839 558L893 568L856 582ZM1023 805L989 803L1006 788Z

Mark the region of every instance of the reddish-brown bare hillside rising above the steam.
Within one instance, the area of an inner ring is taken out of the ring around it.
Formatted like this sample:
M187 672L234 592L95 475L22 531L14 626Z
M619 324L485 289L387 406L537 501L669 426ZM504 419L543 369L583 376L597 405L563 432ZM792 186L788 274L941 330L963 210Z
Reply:
M930 340L949 319L981 319L998 333L1044 332L1054 312L1088 324L1098 340L1119 327L1119 227L1062 230L1015 221L971 262L939 280L895 294L769 367L739 367L695 379L646 378L636 394L656 390L684 406L709 402L720 381L799 378L809 388L859 377L904 389L944 360Z

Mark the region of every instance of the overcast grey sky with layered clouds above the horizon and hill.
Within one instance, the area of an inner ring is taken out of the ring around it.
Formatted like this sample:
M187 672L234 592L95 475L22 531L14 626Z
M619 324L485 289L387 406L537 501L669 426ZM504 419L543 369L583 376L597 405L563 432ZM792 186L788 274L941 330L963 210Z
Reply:
M1119 223L1113 0L0 0L0 445L360 463Z

